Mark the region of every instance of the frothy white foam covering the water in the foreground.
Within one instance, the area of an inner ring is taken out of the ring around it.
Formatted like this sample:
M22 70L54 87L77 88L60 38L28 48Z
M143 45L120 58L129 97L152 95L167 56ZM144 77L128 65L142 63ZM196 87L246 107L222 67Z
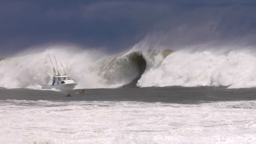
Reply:
M255 143L256 101L0 101L0 143ZM19 115L17 115L19 113Z

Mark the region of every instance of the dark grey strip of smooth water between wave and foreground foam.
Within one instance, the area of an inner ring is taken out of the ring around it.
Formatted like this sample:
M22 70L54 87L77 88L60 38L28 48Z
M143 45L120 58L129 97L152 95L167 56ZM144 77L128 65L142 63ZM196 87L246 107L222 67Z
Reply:
M57 92L49 90L0 88L0 100L56 101L142 101L164 103L205 103L211 101L256 100L256 88L227 89L226 87L147 87L84 89ZM66 97L67 94L71 97Z

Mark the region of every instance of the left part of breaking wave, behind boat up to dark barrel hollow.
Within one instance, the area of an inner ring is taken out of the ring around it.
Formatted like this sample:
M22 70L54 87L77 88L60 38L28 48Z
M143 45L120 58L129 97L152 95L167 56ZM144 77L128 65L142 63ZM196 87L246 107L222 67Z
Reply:
M65 70L75 79L78 82L75 88L120 87L138 75L138 68L127 61L127 54L107 56L97 51L50 47L45 51L23 53L2 60L0 87L40 89L41 86L51 85L53 67L56 74L59 71L63 75Z

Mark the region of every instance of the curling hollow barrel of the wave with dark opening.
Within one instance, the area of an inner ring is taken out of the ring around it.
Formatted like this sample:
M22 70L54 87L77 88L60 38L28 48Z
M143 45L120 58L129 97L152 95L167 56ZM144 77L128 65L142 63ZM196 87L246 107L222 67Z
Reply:
M107 57L97 64L99 65L98 75L104 79L104 84L113 87L119 87L122 84L126 84L126 87L136 87L137 81L146 68L159 65L171 52L171 50L135 50Z

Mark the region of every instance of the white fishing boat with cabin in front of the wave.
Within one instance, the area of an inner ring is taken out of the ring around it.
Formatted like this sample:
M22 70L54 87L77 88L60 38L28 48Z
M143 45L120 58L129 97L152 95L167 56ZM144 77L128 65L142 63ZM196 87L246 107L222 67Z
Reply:
M42 89L56 88L60 91L70 91L75 88L77 82L71 79L69 75L53 76L53 85L46 85Z

